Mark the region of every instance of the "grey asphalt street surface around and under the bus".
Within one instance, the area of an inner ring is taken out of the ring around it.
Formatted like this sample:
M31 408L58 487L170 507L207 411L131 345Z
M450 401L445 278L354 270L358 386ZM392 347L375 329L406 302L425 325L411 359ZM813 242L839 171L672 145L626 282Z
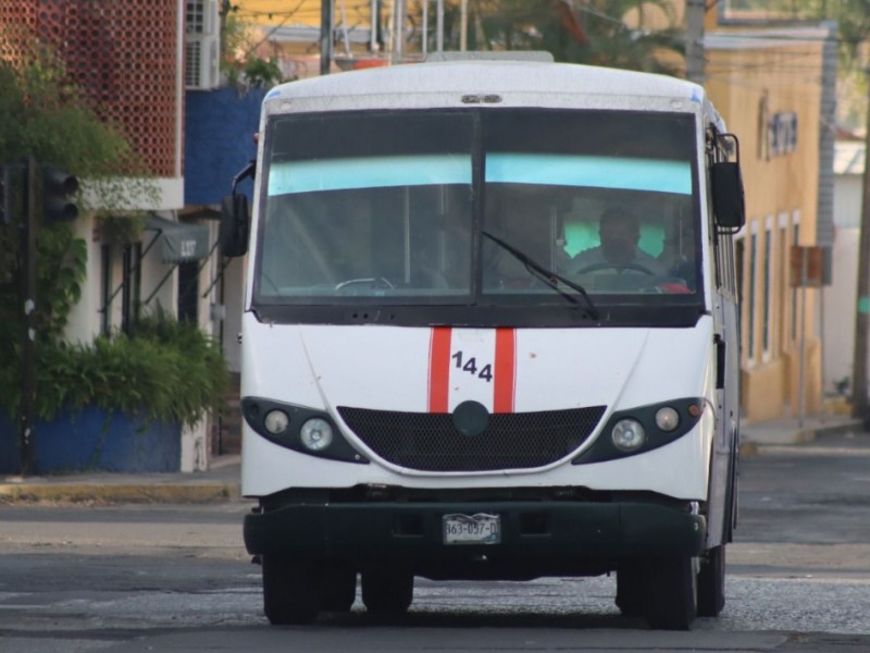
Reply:
M743 460L728 604L691 632L622 617L612 578L417 580L405 618L361 602L273 628L245 501L0 505L0 651L870 651L870 435Z

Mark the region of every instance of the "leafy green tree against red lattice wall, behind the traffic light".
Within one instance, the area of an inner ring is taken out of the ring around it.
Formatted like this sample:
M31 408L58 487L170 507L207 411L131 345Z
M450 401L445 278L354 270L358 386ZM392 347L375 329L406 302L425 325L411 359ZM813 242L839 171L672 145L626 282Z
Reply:
M57 52L24 27L0 35L13 56L0 59L0 163L22 167L28 156L52 163L97 189L80 194L80 211L117 213L129 197L152 198L156 186L122 130L101 121L84 93L66 74ZM22 333L20 300L22 270L18 226L22 215L23 170L13 174L10 195L16 196L13 215L0 225L0 365L16 358ZM88 206L88 197L92 206ZM37 333L57 340L70 309L80 295L87 248L73 238L69 224L38 225L37 231Z

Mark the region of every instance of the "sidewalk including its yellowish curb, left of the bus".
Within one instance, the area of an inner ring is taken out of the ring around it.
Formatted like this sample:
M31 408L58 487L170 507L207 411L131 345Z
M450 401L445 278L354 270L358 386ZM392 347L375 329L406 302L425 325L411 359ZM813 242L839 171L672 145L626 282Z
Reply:
M220 456L208 471L0 476L0 504L18 501L219 503L240 498L239 456Z

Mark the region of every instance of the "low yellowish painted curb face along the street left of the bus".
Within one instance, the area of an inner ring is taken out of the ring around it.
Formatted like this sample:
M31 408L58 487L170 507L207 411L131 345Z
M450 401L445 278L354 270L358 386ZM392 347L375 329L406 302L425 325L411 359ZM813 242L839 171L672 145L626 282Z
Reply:
M105 502L105 503L222 503L240 498L236 483L198 484L0 484L0 502Z

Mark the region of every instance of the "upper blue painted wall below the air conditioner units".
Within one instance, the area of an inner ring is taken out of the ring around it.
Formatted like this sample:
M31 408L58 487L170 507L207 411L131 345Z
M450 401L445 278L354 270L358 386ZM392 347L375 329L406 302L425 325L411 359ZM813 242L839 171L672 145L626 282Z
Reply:
M266 89L188 90L185 111L184 202L220 205L233 177L257 156L253 135ZM250 181L239 190L250 199Z

